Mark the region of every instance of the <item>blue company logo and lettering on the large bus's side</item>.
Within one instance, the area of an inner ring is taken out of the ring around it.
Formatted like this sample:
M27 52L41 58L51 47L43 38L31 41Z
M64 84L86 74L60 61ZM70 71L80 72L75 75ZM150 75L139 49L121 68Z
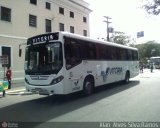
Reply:
M106 68L106 71L101 71L101 76L103 77L103 82L106 82L108 75L119 75L122 73L122 67Z

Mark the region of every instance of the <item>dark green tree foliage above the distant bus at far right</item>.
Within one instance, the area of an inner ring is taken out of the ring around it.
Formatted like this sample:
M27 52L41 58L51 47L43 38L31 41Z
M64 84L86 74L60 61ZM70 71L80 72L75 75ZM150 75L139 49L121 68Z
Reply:
M155 41L148 41L144 44L136 45L139 50L139 58L146 62L152 56L160 56L160 43Z

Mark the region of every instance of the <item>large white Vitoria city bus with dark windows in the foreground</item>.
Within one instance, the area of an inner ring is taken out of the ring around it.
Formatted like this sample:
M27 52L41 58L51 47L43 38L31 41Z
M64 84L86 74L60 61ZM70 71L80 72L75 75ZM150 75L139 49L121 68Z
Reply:
M136 48L67 32L31 37L25 53L26 90L44 95L83 91L129 82L139 74Z

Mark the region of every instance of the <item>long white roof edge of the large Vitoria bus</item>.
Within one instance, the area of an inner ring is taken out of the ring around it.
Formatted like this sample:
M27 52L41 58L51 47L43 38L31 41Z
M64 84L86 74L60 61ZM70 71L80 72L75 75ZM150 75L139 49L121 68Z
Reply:
M113 42L100 41L100 40L92 39L90 37L85 37L85 36L81 36L81 35L77 35L77 34L72 34L72 33L69 33L69 32L60 32L60 33L64 36L66 36L66 37L71 37L71 38L76 38L76 39L86 40L86 41L92 41L94 43L98 42L100 44L105 44L105 45L107 44L107 45L110 45L110 46L121 47L121 48L125 48L125 49L138 50L137 48L133 48L133 47L129 47L129 46L113 43Z

